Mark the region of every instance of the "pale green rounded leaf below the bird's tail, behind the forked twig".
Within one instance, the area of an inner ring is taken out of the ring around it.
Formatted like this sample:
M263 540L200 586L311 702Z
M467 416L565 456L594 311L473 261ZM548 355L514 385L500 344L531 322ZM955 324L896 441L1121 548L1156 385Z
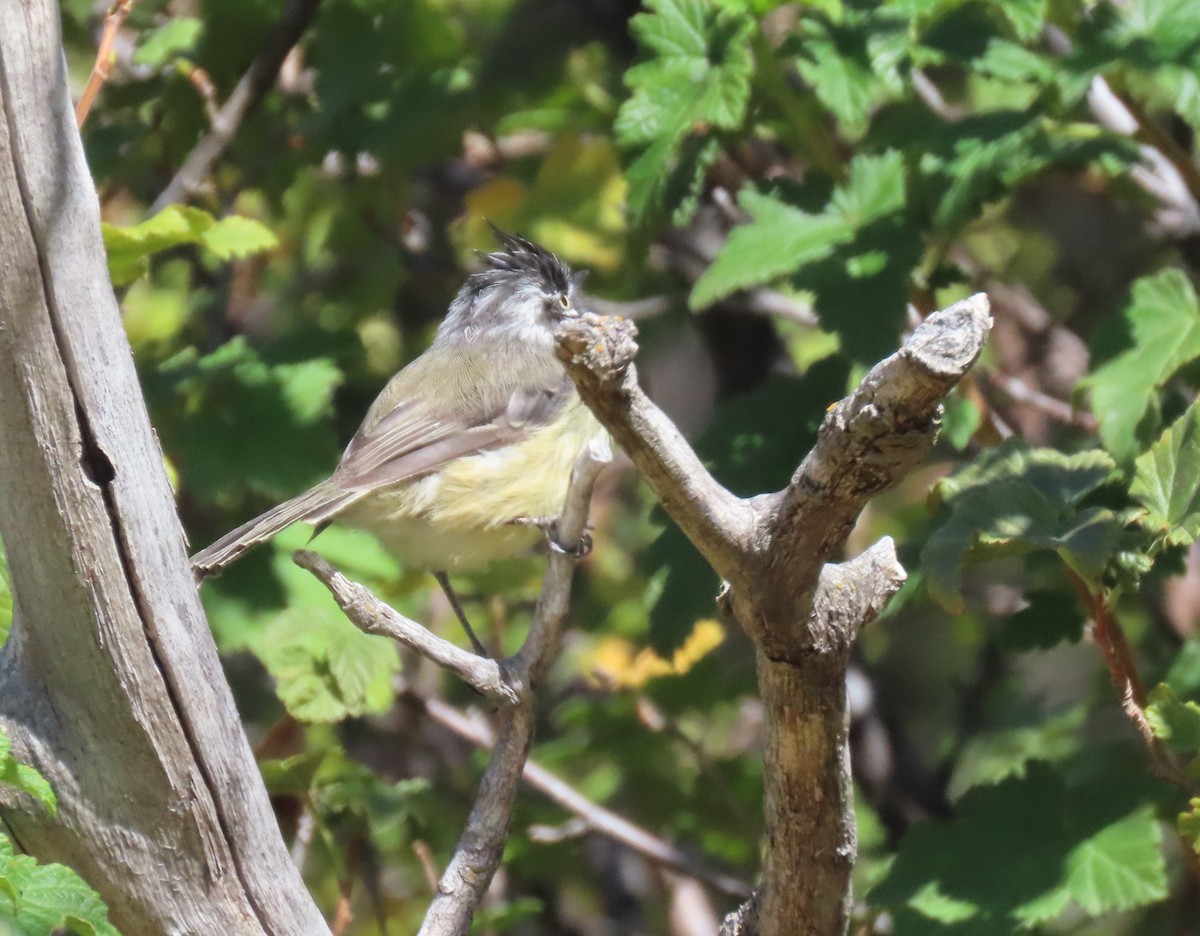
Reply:
M340 721L391 706L400 655L391 641L364 634L331 607L282 612L259 653L276 692L300 721Z

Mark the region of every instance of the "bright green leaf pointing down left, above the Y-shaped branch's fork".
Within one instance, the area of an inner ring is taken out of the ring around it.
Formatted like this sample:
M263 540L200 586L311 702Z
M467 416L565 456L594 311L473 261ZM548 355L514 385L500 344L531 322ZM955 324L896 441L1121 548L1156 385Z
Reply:
M689 305L703 308L738 289L796 274L829 257L859 229L904 208L904 179L899 152L856 157L846 182L817 215L744 188L739 203L751 221L731 232L692 288Z

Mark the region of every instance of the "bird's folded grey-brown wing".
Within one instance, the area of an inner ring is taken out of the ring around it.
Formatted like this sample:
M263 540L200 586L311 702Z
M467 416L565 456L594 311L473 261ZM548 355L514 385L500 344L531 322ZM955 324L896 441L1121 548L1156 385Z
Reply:
M509 445L550 424L575 395L563 373L517 386L474 414L450 415L402 401L350 440L331 479L361 496L433 472L455 458Z

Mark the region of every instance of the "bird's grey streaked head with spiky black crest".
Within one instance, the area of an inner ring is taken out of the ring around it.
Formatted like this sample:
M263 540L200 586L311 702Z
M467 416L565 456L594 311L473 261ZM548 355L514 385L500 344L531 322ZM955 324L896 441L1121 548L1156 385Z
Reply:
M439 343L509 338L551 348L554 326L578 316L581 274L530 240L492 227L503 250L484 257L438 328Z

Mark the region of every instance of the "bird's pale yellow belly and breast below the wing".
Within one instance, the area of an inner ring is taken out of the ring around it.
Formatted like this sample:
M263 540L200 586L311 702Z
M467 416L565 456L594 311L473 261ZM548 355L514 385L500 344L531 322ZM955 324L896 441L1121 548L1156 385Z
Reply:
M520 443L371 493L336 520L370 530L419 569L461 571L517 556L542 534L512 521L557 517L580 451L601 432L576 401L564 418Z

